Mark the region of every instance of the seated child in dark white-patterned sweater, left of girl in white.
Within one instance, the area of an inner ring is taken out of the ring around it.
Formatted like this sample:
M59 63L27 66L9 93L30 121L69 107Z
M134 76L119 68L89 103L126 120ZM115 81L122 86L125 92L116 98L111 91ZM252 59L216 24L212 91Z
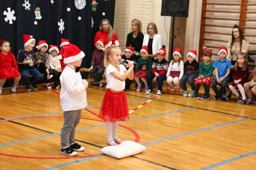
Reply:
M168 69L168 62L166 61L166 49L161 48L158 50L158 53L156 53L158 58L153 61L152 69L150 74L147 76L147 84L149 85L149 90L146 92L146 94L153 93L153 85L152 81L158 81L158 91L157 95L162 94L162 84L163 81L166 80L166 73Z

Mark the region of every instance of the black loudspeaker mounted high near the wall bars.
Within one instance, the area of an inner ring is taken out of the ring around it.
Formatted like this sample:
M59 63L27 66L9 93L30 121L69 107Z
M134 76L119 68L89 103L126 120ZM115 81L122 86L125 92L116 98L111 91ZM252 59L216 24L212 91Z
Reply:
M162 0L162 16L188 17L189 0Z

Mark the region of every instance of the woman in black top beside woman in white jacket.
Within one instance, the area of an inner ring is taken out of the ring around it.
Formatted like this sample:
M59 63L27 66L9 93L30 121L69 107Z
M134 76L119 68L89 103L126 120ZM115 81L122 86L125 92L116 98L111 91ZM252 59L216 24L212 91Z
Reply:
M134 47L134 54L138 56L140 50L142 49L144 38L144 35L142 34L142 22L138 19L133 19L131 22L131 31L131 33L127 34L126 47Z

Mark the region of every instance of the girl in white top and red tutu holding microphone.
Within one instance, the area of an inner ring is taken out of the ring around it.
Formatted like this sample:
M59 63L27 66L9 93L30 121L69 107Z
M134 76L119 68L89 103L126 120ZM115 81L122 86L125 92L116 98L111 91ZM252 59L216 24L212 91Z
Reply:
M118 121L129 120L126 93L126 78L134 79L134 62L128 61L129 69L120 65L121 49L118 46L106 47L104 65L106 67L106 93L98 117L106 121L107 142L111 146L122 143L118 138Z

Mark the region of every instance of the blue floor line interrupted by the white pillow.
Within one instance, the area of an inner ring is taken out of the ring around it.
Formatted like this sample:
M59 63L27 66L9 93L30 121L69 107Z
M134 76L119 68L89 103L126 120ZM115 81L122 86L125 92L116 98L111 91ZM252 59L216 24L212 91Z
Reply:
M154 140L154 141L151 141L151 142L147 142L143 145L146 145L146 144L153 144L153 143L156 143L156 142L159 142L159 141L162 141L162 140L168 140L168 139L172 139L174 137L179 137L179 136L185 136L185 135L188 135L188 134L191 134L191 133L194 133L194 132L202 132L204 130L208 130L210 128L217 128L217 127L221 127L221 126L224 126L224 125L231 125L231 124L235 124L235 123L238 123L238 122L241 122L241 121L247 121L247 120L250 120L250 118L246 118L246 119L242 119L242 120L238 120L238 121L232 121L232 122L228 122L228 123L225 123L225 124L221 124L221 125L214 125L214 126L211 126L209 128L202 128L202 129L199 129L199 130L195 130L195 131L192 131L192 132L186 132L186 133L183 133L181 135L176 135L176 136L170 136L170 137L166 137L166 138L163 138L161 140ZM254 154L254 153L253 153ZM252 155L252 154L251 154ZM99 156L104 156L104 155L99 155ZM98 157L99 157L98 156ZM93 157L91 157L91 159L93 159ZM84 160L90 160L90 159L84 159ZM82 162L84 160L81 160L79 162ZM55 166L55 167L51 167L51 168L47 168L47 169L54 169L54 168L59 168L59 167L63 167L63 166L66 166L66 165L70 165L70 164L75 164L75 163L78 163L78 160L75 160L75 161L72 161L70 163L67 163L67 164L60 164L58 166Z

